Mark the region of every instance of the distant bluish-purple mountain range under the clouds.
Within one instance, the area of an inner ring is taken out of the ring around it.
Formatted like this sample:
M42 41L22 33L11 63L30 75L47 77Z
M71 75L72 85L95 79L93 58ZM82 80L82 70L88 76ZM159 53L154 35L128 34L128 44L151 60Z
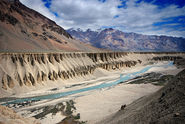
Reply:
M108 28L99 31L90 29L67 30L73 38L98 48L116 51L185 51L185 38L171 36L125 33Z

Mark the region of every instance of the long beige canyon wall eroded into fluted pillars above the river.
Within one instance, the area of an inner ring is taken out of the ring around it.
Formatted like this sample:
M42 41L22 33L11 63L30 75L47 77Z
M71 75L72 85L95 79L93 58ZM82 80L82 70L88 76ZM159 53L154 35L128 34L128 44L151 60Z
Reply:
M108 71L124 69L149 61L182 59L184 53L1 53L0 90L44 85L92 75L97 68ZM62 84L61 84L62 85Z

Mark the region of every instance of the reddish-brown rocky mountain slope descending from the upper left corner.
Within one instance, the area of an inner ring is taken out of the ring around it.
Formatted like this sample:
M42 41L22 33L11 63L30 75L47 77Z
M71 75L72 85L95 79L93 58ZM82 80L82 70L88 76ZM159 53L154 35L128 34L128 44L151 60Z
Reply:
M19 0L0 1L0 51L94 51Z

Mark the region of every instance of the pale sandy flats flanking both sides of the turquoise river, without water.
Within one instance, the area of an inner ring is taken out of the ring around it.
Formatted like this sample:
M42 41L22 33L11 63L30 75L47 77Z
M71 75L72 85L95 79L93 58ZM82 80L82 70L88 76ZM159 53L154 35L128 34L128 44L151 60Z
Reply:
M166 62L156 63L156 67L149 69L146 74L151 72L161 73L164 75L173 74L176 75L182 69L177 69L175 66L166 67L157 67ZM146 65L147 66L147 65ZM149 66L149 65L148 65ZM143 65L137 65L132 68L122 68L120 70L112 70L106 71L104 69L96 69L96 71L92 74L91 78L86 76L84 78L88 79L86 81L79 80L78 78L69 80L69 82L65 83L66 88L62 86L53 85L53 88L42 88L41 90L30 91L26 94L18 94L14 95L15 97L28 97L28 96L38 96L44 94L55 94L58 92L66 92L73 91L85 87L95 86L103 83L114 82L120 77L120 73L125 75L128 73L134 73L144 68ZM92 79L92 77L96 77L96 79ZM161 77L161 76L160 76ZM142 78L142 77L141 77ZM144 78L144 77L143 77ZM78 79L78 80L77 80ZM136 78L133 80L129 80L126 83L120 83L116 86L102 88L92 91L86 91L82 93L77 93L74 95L69 95L67 97L61 97L59 99L53 100L41 100L41 101L33 101L28 103L21 103L10 105L10 107L14 108L18 114L23 115L24 117L36 117L40 120L41 123L58 123L58 122L74 122L79 123L79 121L73 119L66 120L66 112L68 113L68 109L66 107L66 101L73 100L74 105L70 108L75 107L73 109L73 116L78 117L78 113L80 114L80 121L87 121L86 123L94 124L101 121L103 118L114 114L119 111L123 104L130 104L134 100L152 94L159 90L163 84L155 85L152 82L148 83L132 83L134 81L139 81L140 78ZM79 81L79 84L75 86L74 84L78 84L74 82L74 80ZM70 82L73 83L70 83ZM152 80L151 81L156 81ZM68 84L68 85L67 85ZM64 85L64 84L63 84ZM50 85L51 86L51 85ZM51 90L53 89L53 90ZM56 90L54 90L56 89ZM70 110L71 111L71 110ZM67 115L68 116L68 115ZM63 121L61 121L63 120Z

